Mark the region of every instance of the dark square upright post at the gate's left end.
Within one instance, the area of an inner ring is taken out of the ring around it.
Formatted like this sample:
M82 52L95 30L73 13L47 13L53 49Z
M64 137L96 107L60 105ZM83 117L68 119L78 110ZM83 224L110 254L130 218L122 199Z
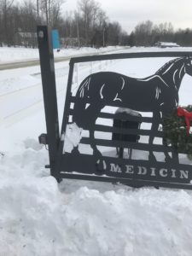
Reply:
M54 55L48 26L38 26L38 49L44 92L44 111L49 145L49 168L55 177L55 157L59 147L59 120L55 87Z

